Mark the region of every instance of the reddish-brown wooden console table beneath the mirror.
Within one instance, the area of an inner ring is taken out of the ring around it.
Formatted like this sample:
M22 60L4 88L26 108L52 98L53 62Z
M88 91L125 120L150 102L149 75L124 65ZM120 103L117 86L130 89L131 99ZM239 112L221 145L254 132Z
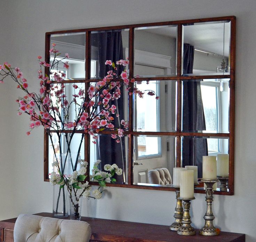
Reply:
M36 215L52 217L52 213ZM182 236L170 231L169 226L125 222L118 220L82 217L91 225L91 242L245 242L245 234L221 232L218 236ZM13 242L13 229L16 218L0 221L0 242Z

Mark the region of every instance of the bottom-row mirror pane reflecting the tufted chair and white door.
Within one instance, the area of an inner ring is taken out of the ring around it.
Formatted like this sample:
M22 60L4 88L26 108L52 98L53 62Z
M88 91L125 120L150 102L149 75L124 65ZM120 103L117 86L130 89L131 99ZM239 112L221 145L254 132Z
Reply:
M170 186L176 161L175 140L175 136L134 137L134 185ZM166 180L160 179L160 174L165 174Z

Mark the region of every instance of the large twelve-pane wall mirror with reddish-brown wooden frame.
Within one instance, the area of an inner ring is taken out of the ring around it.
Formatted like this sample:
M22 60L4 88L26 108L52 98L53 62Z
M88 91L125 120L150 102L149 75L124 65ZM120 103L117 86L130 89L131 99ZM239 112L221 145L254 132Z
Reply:
M202 156L216 156L227 164L229 181L226 190L220 182L214 189L233 195L235 17L56 31L46 33L46 43L46 53L56 44L62 53L58 60L69 53L69 70L58 66L67 99L73 98L74 82L87 93L89 85L106 75L106 60L125 58L134 85L160 97L138 98L122 90L117 104L120 118L115 122L128 120L130 126L120 143L111 139L111 131L99 131L95 142L78 130L72 147L81 144L90 170L96 160L102 160L98 169L115 163L123 170L117 186L173 191L173 168L198 166L202 178ZM53 55L46 59L53 61ZM54 70L52 75L54 79ZM58 144L54 148L58 152ZM45 180L51 172L52 151L45 135ZM223 169L218 165L221 176ZM156 172L165 179L156 179ZM199 185L195 191L203 189Z

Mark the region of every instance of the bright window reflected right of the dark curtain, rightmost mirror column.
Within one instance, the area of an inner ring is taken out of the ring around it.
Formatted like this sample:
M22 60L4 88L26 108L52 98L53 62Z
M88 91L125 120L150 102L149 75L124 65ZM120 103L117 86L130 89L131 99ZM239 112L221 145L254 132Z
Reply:
M201 82L203 112L205 113L206 130L219 132L219 82ZM208 153L220 152L219 139L207 139Z

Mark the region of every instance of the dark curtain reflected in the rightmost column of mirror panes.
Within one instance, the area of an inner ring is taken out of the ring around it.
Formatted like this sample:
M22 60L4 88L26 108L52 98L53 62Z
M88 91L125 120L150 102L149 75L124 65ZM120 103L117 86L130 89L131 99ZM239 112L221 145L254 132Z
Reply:
M194 47L184 44L183 74L193 73ZM201 96L201 80L183 80L182 130L198 132L206 130ZM207 140L184 136L182 142L182 166L198 166L202 177L202 156L208 155Z

